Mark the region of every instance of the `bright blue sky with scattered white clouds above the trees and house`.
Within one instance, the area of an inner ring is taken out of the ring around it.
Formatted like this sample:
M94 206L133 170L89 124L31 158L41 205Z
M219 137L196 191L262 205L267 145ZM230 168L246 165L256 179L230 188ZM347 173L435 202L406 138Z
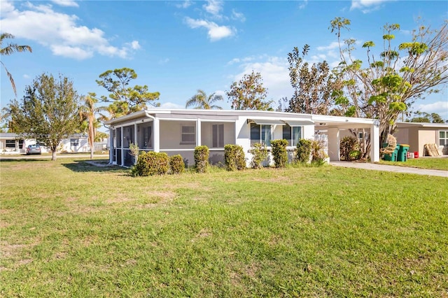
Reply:
M287 54L311 46L309 62L337 64L330 20L346 17L346 38L381 45L384 24L400 24L397 45L409 41L416 19L433 28L448 19L447 1L0 1L0 30L32 53L2 56L20 99L43 72L62 73L80 94L107 95L95 80L108 69L129 67L160 92L164 108L184 108L197 89L223 94L244 73L261 73L268 98L290 98ZM378 48L380 50L380 48ZM365 53L357 53L365 59ZM1 69L1 107L14 98ZM276 106L276 105L275 105ZM442 88L414 110L448 119Z

